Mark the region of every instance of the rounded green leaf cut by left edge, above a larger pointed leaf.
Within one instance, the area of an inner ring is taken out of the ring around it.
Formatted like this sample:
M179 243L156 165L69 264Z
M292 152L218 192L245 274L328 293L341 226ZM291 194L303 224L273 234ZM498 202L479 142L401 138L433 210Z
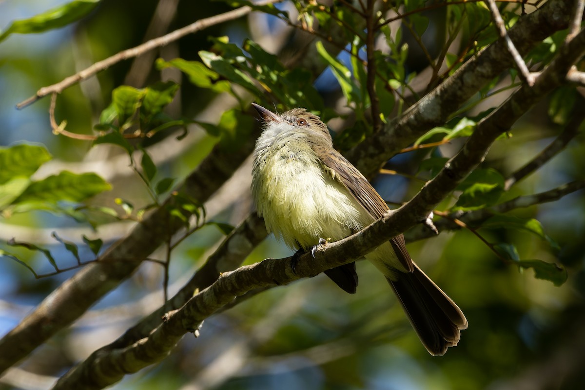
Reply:
M0 184L15 177L30 177L51 158L44 146L20 144L0 147Z

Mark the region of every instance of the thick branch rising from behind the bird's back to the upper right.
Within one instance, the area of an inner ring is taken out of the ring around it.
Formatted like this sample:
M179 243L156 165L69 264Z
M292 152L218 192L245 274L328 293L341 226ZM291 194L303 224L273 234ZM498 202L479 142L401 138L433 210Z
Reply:
M566 28L572 5L572 0L550 0L535 12L522 16L508 31L519 53L528 53L553 32ZM383 130L350 150L347 159L370 177L398 151L433 127L443 125L457 108L511 63L510 53L503 42L491 44L412 105L401 118L389 122Z

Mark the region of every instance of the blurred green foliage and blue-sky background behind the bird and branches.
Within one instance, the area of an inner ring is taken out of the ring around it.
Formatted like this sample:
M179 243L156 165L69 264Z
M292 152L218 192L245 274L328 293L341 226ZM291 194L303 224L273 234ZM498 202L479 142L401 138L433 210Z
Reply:
M40 22L47 31L37 26L38 30L28 32L38 34L19 34L27 31L12 27L13 34L2 36L0 145L6 147L2 156L12 153L13 159L3 160L5 178L0 172L5 185L2 195L7 196L0 202L0 250L5 255L0 257L1 334L75 272L35 279L26 267L47 274L55 266L75 268L95 258L124 236L143 213L160 205L173 185L216 143L238 148L243 140L257 136L250 101L274 105L279 111L307 107L328 121L336 147L349 150L376 131L374 123L383 125L400 116L496 39L490 14L478 2L450 6L418 0L377 3L383 19L395 18L398 12L412 13L386 24L376 36L375 87L380 108L373 118L361 17L342 1L323 5L284 1L263 8L266 13L214 25L120 61L64 90L55 110L57 124L66 120L61 130L97 139L53 134L47 114L50 97L19 111L14 108L40 87L98 60L246 3L90 1L76 4L87 9L80 15L71 13L72 20L61 20L62 28L54 28L60 27L57 22L55 26ZM0 2L0 28L10 32L6 29L13 20L71 4ZM355 4L360 7L359 2ZM526 5L527 12L534 9ZM500 4L500 11L508 27L522 17L518 3ZM311 35L287 26L283 19L301 27L317 23L314 26L321 27L317 35L337 23L347 35L346 50L332 54L317 43L315 58L298 60L298 46ZM565 35L566 31L556 33L532 50L528 56L532 69L542 69L550 61ZM317 65L304 66L307 61ZM421 77L424 74L426 78ZM421 84L420 79L425 82ZM384 168L398 174L384 171L374 177L378 192L391 206L407 201L441 169L445 158L456 153L474 124L519 83L513 69L495 78L454 112L445 126L431 130L415 145L448 143L388 161ZM440 210L484 209L516 196L583 181L585 143L579 133L585 118L583 106L583 88L560 87L546 96L494 144L472 179L446 199ZM577 135L562 153L510 189L504 188L505 178L569 127ZM22 167L23 161L30 163L28 171L5 173L11 165ZM184 284L230 227L252 209L249 173L248 161L205 205L196 199L181 203L196 210L199 218L195 233L172 252L167 269L169 294ZM50 177L57 184L48 182ZM59 185L66 190L53 191ZM75 185L83 191L75 192ZM206 320L197 340L185 337L163 363L126 377L114 388L581 388L585 379L581 369L585 364L584 207L583 192L575 192L491 220L490 226L478 228L477 233L500 247L499 258L467 229L446 230L409 244L412 257L469 320L459 346L444 357L429 356L384 278L370 264L359 262L361 284L356 295L345 294L322 275L261 292ZM411 241L414 236L407 234ZM245 263L290 254L270 236ZM152 258L164 260L165 249ZM535 278L531 268L513 265L520 260L542 261L535 263L541 278ZM145 262L72 327L38 348L20 365L21 377L12 372L0 379L0 388L48 388L71 365L158 308L163 303L164 272L160 264Z

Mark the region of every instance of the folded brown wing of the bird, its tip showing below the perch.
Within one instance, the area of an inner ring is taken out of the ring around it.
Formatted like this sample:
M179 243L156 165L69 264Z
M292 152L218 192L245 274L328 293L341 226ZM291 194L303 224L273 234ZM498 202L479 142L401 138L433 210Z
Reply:
M370 183L349 161L346 160L335 149L329 149L322 146L314 145L312 149L322 161L322 163L330 170L335 172L335 178L339 180L349 192L356 198L356 200L363 206L364 209L374 219L378 219L388 211L388 206L380 194L371 187ZM404 243L404 236L393 237L390 240L394 252L398 256L400 263L406 267L409 272L414 271L414 265Z

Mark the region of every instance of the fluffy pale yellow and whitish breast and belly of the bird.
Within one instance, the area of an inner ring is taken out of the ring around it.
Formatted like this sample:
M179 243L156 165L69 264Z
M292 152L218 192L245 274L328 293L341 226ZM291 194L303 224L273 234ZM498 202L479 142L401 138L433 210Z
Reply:
M347 237L371 216L322 168L302 133L264 132L254 153L252 194L266 227L291 248L309 249L319 238Z

